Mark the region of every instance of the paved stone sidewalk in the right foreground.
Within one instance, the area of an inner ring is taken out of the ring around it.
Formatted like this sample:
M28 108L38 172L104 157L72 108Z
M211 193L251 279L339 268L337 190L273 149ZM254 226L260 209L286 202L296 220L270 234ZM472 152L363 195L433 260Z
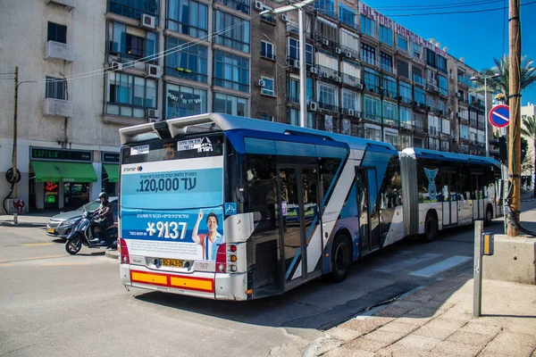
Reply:
M473 276L440 280L331 328L304 356L536 356L536 286Z

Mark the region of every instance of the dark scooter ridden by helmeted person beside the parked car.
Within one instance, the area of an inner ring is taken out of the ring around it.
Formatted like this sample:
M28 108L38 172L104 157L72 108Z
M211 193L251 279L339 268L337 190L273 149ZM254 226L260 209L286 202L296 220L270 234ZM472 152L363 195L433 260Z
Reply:
M94 237L93 229L91 228L96 222L94 216L94 212L84 210L82 219L67 237L67 241L65 242L65 250L67 253L70 253L71 255L79 253L80 249L82 249L82 245L86 245L88 248L108 246L108 242L105 240ZM110 240L113 241L111 248L116 249L118 236L117 224L114 223L112 226L106 228L106 232L108 233Z

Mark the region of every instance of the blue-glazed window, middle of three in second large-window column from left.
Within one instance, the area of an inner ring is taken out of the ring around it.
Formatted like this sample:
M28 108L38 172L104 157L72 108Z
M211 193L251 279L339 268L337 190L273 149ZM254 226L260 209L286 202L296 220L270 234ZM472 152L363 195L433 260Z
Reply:
M182 79L206 83L208 79L208 49L201 45L189 45L188 42L175 37L165 38L165 74ZM177 51L180 49L180 51Z

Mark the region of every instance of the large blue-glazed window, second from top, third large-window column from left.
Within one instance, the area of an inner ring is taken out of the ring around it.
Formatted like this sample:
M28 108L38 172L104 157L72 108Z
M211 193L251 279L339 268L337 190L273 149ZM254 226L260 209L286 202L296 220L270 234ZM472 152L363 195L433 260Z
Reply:
M215 43L249 54L249 21L220 10L214 19Z

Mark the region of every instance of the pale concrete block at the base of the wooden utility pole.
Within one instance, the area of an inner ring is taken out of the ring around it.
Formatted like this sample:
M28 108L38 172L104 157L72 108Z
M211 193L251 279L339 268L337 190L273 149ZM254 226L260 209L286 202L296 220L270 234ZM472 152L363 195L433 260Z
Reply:
M495 249L482 258L482 277L536 285L536 238L495 235Z

